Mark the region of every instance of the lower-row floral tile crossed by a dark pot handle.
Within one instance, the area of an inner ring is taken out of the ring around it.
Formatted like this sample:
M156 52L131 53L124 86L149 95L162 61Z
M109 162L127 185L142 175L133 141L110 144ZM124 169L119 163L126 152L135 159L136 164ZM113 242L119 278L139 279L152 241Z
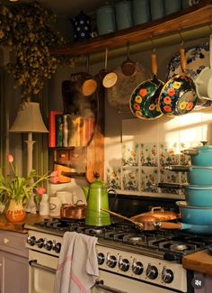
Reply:
M180 183L180 173L170 171L164 168L160 169L160 182L161 183ZM176 188L161 188L164 193L181 194L181 189Z

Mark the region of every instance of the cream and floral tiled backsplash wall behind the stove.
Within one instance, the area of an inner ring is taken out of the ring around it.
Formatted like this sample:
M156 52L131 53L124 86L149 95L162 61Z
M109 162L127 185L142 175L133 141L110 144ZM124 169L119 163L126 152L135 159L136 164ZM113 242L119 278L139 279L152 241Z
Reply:
M153 121L122 120L122 135L107 142L106 178L115 189L136 193L172 193L183 189L157 188L158 182L186 183L186 172L164 169L170 165L190 165L190 156L181 153L201 141L211 144L212 114L186 114ZM116 141L119 141L116 142Z

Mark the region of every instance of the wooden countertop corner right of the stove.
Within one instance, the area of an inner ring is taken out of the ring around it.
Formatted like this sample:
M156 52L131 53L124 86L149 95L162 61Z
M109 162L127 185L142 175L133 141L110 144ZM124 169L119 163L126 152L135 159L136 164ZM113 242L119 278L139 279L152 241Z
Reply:
M212 253L208 250L194 252L182 259L184 269L212 275Z

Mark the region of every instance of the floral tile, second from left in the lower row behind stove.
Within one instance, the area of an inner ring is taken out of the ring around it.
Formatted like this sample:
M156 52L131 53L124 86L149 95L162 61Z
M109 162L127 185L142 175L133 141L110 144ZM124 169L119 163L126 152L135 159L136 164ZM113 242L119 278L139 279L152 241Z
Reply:
M139 175L138 168L122 169L122 184L125 190L138 191Z

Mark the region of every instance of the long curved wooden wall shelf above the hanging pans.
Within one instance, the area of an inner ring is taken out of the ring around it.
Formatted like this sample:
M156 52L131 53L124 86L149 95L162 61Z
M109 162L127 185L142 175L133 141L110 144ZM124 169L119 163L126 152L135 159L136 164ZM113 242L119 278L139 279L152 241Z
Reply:
M211 25L210 25L211 23ZM212 31L212 1L202 0L199 5L191 6L181 12L168 15L163 19L151 23L144 23L134 26L130 29L121 30L116 33L110 33L88 41L81 41L68 45L66 48L55 50L57 55L70 57L92 54L104 48L117 49L139 42L150 41L151 37L155 39L165 38L191 29L208 25L209 31Z

